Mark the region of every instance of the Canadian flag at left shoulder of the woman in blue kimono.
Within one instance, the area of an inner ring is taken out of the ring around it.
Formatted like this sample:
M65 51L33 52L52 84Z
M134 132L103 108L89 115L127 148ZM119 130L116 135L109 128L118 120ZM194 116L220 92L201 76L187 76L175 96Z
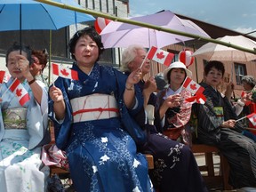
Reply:
M52 63L52 73L56 76L62 76L64 78L78 80L78 73L70 68L64 68L58 64Z

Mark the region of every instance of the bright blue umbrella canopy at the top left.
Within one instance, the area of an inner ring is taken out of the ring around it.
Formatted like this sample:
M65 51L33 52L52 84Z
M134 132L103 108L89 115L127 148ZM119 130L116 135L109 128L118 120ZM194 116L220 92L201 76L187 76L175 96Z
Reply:
M54 0L82 8L73 0ZM62 9L33 0L0 0L0 31L59 29L83 21L95 20L91 15Z

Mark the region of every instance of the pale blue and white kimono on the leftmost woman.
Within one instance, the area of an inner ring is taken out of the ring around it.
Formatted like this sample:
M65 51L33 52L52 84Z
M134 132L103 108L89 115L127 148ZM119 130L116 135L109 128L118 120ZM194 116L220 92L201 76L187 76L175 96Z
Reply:
M13 78L2 84L0 97L0 186L2 192L42 191L49 168L40 159L41 147L50 141L48 131L48 92L42 82L39 105L27 83L22 83L30 100L23 106L10 89Z

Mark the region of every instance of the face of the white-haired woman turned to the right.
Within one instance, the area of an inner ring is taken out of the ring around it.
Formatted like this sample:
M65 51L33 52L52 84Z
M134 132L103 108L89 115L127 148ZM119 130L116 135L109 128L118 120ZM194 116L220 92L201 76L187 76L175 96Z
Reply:
M129 68L131 69L131 71L134 71L137 68L140 68L141 63L146 58L146 56L147 56L147 52L144 49L138 50L136 57L129 64ZM146 59L146 60L144 60L144 63L141 67L141 73L142 73L142 75L146 75L149 72L150 72L150 60Z

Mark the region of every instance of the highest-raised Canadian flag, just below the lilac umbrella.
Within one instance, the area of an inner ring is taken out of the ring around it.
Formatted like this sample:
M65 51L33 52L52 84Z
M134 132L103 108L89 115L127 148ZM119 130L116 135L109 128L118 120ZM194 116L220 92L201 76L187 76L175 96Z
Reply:
M155 46L152 46L148 51L149 60L155 60L156 62L162 63L167 67L171 65L173 57L173 53L157 49Z

